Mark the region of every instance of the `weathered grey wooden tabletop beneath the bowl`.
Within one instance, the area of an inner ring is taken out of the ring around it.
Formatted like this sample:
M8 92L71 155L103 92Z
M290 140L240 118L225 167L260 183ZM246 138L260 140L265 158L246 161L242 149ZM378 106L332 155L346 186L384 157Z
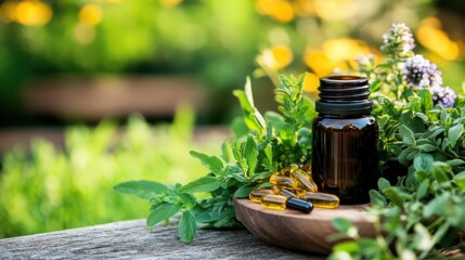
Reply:
M270 246L246 230L199 230L192 244L175 225L145 220L0 239L0 259L324 259Z

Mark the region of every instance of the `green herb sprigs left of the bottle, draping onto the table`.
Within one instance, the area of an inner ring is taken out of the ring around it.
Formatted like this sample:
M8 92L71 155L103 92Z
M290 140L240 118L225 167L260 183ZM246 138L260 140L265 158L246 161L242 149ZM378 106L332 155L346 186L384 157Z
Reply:
M190 243L198 226L235 227L233 197L247 197L256 186L270 186L269 177L289 164L305 164L311 150L311 120L314 106L303 96L305 75L298 80L280 76L282 88L275 90L279 113L262 116L254 105L250 80L244 90L233 93L240 101L243 117L233 122L234 138L224 141L221 156L191 151L209 171L185 185L168 187L150 181L130 181L116 191L147 199L151 212L147 225L154 226L179 217L179 237ZM194 194L207 194L196 199Z

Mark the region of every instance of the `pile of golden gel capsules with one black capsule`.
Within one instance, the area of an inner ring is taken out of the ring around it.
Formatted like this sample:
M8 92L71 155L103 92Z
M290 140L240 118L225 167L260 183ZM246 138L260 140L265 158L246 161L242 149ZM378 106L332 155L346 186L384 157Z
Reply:
M303 170L306 169L306 170ZM284 210L294 208L311 212L313 207L336 208L339 198L336 195L318 192L311 176L311 168L290 165L270 177L269 188L255 188L249 193L251 202L260 203L264 208Z

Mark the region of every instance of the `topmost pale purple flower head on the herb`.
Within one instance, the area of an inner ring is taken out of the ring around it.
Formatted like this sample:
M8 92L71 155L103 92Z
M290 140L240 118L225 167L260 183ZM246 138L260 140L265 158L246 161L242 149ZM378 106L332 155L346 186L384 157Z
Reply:
M387 55L406 57L413 55L415 40L410 28L404 23L393 23L391 28L383 35L382 51Z

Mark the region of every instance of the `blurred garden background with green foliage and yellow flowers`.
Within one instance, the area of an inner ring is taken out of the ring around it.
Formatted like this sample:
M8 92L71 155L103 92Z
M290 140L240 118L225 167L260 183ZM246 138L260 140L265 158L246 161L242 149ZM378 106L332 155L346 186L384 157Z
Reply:
M237 115L247 75L260 109L277 72L309 72L314 96L319 77L379 56L392 22L462 93L461 0L0 1L0 237L144 217L112 186L204 174L189 151L218 153L228 132L205 126Z

